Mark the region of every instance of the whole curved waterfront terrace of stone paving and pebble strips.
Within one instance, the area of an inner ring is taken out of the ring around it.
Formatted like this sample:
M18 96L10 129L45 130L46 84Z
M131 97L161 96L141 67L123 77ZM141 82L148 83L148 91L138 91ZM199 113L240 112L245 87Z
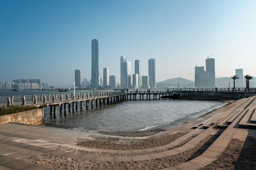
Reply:
M137 137L77 126L4 123L0 169L223 169L220 162L227 152L236 161L230 166L238 168L240 157L232 155L232 148L241 156L248 141L255 142L255 108L256 96L243 98L184 124ZM234 142L240 143L232 147ZM255 159L249 156L247 163L255 169Z

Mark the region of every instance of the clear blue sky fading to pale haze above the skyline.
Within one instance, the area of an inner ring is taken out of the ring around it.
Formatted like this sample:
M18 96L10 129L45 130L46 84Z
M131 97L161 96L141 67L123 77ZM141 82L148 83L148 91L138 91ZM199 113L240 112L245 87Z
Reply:
M195 66L215 58L216 77L235 69L256 76L255 0L0 0L0 82L40 78L72 85L91 78L91 41L99 73L120 83L120 56L156 59L156 81L194 80Z

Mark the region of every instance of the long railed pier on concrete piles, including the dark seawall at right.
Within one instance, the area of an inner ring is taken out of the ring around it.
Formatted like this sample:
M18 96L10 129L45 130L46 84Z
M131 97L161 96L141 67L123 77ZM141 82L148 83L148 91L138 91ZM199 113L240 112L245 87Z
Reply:
M29 96L0 96L0 107L11 105L34 105L39 108L50 107L50 114L56 118L57 108L60 114L64 112L74 113L80 109L93 109L94 107L109 105L122 100L166 100L171 98L195 98L195 99L240 99L256 95L255 92L231 92L226 89L168 89L168 90L136 90L136 91L111 91L111 92L87 92L76 94L48 94ZM153 96L153 97L152 97ZM72 105L72 106L71 106Z

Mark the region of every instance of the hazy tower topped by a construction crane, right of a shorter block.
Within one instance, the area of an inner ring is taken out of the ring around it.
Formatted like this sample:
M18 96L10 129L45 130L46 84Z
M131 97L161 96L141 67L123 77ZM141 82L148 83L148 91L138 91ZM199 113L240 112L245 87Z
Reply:
M209 72L209 87L215 88L215 59L208 58L205 63L205 70Z

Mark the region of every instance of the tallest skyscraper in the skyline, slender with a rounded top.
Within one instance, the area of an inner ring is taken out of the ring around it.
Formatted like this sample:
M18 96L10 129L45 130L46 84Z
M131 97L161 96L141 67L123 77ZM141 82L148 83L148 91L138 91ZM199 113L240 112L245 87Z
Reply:
M99 43L97 39L92 40L92 88L99 87Z

